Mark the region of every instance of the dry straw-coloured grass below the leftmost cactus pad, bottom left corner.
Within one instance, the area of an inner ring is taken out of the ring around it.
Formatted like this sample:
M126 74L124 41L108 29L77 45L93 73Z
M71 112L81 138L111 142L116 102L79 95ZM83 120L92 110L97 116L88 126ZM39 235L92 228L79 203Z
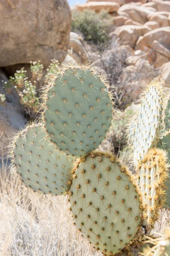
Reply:
M67 198L26 189L14 170L0 172L1 256L99 256L71 223Z

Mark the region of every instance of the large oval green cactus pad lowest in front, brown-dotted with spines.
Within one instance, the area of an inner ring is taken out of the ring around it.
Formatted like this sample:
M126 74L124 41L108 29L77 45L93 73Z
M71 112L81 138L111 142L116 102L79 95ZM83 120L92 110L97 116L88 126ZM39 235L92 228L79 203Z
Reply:
M77 161L69 201L74 224L96 250L114 255L141 224L140 192L113 154L91 152Z

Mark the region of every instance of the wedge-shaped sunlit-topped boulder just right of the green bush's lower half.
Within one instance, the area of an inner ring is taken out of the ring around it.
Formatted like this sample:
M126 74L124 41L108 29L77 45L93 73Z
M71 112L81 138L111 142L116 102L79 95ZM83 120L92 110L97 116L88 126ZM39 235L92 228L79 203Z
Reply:
M116 28L111 35L116 35L120 44L126 44L134 48L138 38L151 29L148 26L124 25ZM115 38L114 38L115 40Z

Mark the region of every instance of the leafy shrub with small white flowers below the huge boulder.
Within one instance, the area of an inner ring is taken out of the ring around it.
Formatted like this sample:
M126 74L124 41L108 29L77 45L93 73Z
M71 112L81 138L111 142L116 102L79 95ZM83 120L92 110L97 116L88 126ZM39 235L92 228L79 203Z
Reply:
M31 79L29 80L27 71L23 68L17 70L14 77L10 77L11 83L17 90L20 97L20 103L27 119L35 119L38 111L39 99L37 89L42 87L48 78L57 72L59 63L57 60L52 59L49 67L44 71L44 67L40 61L31 61Z

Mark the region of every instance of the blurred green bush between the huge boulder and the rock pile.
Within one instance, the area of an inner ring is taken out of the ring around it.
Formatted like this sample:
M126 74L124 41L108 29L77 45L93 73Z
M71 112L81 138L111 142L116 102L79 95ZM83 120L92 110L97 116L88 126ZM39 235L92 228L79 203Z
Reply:
M95 13L91 10L72 13L72 31L81 32L86 41L102 44L108 41L113 25L112 17L107 12Z

